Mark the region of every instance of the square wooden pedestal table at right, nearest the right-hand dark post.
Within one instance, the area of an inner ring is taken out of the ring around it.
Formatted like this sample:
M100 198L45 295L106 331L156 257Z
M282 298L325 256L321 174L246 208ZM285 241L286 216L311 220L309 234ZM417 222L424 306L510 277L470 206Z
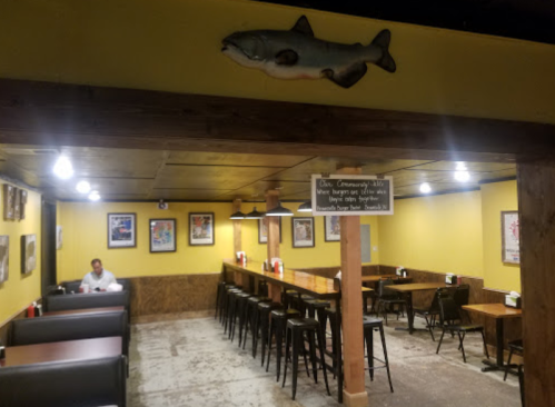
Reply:
M487 365L482 371L505 370L503 361L504 345L504 320L506 318L519 318L523 315L522 309L505 307L504 304L473 304L463 306L463 309L472 312L483 314L487 317L495 318L495 337L497 346L497 357L495 363L484 359L484 365Z

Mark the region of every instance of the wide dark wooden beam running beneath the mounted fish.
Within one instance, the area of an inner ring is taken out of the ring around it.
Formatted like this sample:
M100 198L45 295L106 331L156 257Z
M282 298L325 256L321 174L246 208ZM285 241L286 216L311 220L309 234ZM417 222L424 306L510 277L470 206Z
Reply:
M555 126L0 79L0 143L514 162Z

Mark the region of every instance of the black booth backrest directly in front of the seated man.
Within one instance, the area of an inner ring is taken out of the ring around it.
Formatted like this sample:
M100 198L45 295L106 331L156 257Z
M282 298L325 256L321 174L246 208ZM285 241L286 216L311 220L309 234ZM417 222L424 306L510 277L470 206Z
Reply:
M126 310L130 312L128 290L119 292L67 294L65 296L44 296L43 298L46 311L120 306L126 307Z

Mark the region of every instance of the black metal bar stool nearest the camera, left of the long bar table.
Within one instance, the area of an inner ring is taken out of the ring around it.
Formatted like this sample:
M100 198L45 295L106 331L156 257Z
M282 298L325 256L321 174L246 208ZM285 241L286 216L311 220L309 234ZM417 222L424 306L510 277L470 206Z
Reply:
M297 374L299 365L299 351L305 349L304 335L308 337L309 344L309 355L313 365L313 377L314 383L318 383L318 367L316 359L316 340L318 337L318 349L319 349L319 360L321 369L324 371L324 381L326 383L326 390L328 396L329 393L328 376L326 374L326 363L324 359L324 334L321 331L320 324L313 318L291 318L287 321L287 334L285 344L285 367L284 367L284 383L281 387L285 387L285 381L287 378L287 361L289 359L289 349L293 345L293 399L295 400L295 395L297 393ZM306 353L305 353L305 364L306 364ZM308 367L308 366L307 366Z

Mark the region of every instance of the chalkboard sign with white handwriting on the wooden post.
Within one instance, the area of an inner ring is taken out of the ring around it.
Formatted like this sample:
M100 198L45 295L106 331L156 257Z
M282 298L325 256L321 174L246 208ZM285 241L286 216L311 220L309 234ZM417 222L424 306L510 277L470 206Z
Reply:
M313 175L313 215L393 215L393 178Z

